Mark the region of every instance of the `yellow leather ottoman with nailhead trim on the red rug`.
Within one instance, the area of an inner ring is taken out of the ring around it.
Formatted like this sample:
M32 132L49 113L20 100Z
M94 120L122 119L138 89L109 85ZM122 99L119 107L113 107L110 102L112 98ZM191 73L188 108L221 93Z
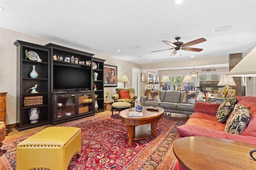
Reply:
M81 153L81 129L48 127L17 145L16 170L66 170Z

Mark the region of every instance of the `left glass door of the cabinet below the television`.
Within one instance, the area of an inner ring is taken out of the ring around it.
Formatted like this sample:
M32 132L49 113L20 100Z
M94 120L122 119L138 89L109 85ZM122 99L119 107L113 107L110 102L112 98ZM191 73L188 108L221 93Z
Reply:
M56 96L56 119L75 115L75 94Z

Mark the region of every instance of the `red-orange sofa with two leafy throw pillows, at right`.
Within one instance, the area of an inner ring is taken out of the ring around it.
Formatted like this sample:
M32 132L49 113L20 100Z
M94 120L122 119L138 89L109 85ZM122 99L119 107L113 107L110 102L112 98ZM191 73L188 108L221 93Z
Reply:
M190 119L188 119L185 125L177 127L177 131L179 132L178 138L186 136L207 136L256 144L256 97L234 97L238 100L237 104L244 105L250 110L249 123L240 135L224 132L226 123L219 123L217 121L215 115L220 103L196 102L194 113L192 113Z

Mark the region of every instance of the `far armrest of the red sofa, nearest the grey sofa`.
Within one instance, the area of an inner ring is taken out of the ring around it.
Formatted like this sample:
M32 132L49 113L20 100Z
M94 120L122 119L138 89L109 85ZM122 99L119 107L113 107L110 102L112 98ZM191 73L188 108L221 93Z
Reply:
M201 113L216 115L216 112L218 111L219 106L220 106L220 103L196 102L193 112L201 112Z

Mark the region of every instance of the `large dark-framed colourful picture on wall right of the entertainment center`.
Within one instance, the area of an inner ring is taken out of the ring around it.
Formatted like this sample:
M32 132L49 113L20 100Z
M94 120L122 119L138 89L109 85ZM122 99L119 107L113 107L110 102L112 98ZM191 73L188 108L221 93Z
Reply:
M104 65L104 87L117 87L117 66Z

